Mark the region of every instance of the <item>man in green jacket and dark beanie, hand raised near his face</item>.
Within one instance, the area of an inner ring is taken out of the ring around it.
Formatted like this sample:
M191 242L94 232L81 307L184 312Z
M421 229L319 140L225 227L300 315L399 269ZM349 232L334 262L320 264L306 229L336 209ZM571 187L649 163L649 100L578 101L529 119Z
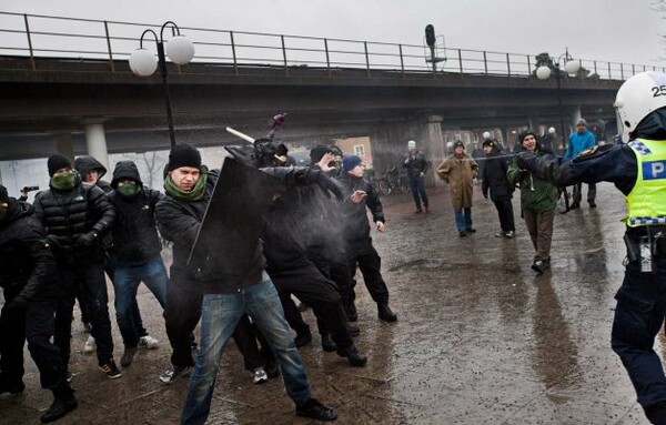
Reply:
M521 133L519 140L523 150L535 152L539 156L553 155L553 152L539 148L536 133L532 130ZM517 163L517 155L508 165L506 176L512 184L518 183L521 188L521 210L536 251L532 270L542 274L551 266L551 242L557 204L557 188L531 171L522 170Z

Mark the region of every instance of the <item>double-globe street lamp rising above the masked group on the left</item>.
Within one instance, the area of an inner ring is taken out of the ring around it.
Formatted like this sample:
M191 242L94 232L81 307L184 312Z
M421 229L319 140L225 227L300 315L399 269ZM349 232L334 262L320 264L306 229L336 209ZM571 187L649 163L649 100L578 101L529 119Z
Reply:
M164 54L164 28L171 27L173 38L167 43L167 54ZM158 44L158 61L155 55L148 49L143 48L143 37L151 33L155 43ZM160 75L162 77L162 87L164 89L164 104L167 107L167 123L169 124L169 138L171 145L175 144L175 135L173 132L173 118L171 115L171 98L169 95L169 83L168 83L168 71L167 71L167 55L175 64L183 65L189 63L194 58L194 44L188 40L184 36L181 36L180 29L172 21L167 21L160 29L160 37L148 29L141 34L139 41L139 50L134 51L130 55L130 69L139 77L150 77L155 72L158 62L160 64Z

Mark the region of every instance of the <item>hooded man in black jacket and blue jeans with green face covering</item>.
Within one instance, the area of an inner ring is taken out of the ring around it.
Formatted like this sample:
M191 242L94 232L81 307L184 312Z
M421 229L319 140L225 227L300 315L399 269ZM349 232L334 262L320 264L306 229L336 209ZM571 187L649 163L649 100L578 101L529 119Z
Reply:
M120 161L113 170L113 192L109 199L115 209L115 225L111 234L110 256L115 266L115 317L124 343L120 365L129 366L141 344L143 328L135 320L137 289L143 282L164 308L169 276L160 256L162 242L158 235L155 205L161 192L143 185L137 164Z

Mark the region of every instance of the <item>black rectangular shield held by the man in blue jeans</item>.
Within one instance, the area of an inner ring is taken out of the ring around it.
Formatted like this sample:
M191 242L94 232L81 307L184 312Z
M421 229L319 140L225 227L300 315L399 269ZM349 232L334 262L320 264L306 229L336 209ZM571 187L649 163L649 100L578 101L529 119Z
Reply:
M188 264L248 263L256 250L264 216L278 188L280 181L274 176L226 158Z

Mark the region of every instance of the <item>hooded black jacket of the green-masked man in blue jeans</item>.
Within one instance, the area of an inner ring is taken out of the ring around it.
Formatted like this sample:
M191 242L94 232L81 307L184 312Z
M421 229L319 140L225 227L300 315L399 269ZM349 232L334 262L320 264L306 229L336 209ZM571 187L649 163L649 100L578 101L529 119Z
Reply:
M118 189L118 181L121 179L132 179L142 184L139 170L132 161L115 164L111 186ZM162 251L155 221L155 205L162 198L164 195L161 192L147 186L131 198L115 191L109 194L109 200L115 209L111 252L119 261L141 263Z

